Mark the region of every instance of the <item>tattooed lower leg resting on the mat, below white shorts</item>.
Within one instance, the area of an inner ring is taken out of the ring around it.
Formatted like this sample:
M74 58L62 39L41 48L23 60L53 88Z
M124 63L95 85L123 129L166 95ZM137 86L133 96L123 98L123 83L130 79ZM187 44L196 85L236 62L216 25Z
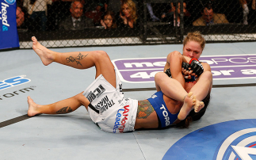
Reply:
M37 114L63 114L68 112L73 112L78 109L81 105L84 105L88 109L90 101L86 99L79 93L74 97L67 98L63 101L58 101L50 105L37 105L31 97L28 97L29 116L35 116Z

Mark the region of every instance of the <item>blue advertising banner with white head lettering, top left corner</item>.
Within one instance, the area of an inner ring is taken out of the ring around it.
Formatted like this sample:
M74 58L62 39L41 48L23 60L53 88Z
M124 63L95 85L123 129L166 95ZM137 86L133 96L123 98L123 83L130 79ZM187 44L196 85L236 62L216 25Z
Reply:
M16 0L0 0L0 50L18 48Z

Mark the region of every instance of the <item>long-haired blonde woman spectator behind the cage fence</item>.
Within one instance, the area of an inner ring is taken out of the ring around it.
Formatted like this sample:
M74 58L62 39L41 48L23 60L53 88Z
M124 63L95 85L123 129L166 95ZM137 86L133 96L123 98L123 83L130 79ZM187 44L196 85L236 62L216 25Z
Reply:
M132 0L122 2L120 8L120 18L121 24L124 24L129 28L134 28L136 25L136 20L138 19L136 3Z

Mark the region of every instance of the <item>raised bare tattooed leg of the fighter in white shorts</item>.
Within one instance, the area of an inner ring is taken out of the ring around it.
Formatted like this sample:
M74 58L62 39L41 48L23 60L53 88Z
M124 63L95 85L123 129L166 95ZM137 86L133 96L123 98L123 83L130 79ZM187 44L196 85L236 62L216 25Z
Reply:
M34 36L32 36L32 41L33 50L40 56L45 66L55 62L77 69L96 67L96 78L98 75L102 74L110 84L116 87L116 74L113 63L105 51L74 51L60 53L45 48Z

